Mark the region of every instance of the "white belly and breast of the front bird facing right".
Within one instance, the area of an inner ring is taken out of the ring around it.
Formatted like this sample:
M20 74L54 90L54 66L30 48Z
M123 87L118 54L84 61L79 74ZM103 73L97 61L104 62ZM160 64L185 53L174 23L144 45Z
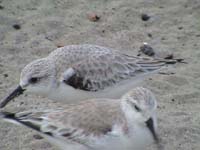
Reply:
M152 136L147 128L134 128L128 135L121 132L116 135L106 135L86 140L85 144L71 143L47 137L48 141L61 150L145 150L153 143Z

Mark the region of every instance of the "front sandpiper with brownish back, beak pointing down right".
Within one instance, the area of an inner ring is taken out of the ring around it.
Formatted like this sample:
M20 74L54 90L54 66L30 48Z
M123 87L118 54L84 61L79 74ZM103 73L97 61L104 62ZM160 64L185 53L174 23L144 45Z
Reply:
M58 109L18 113L0 118L38 131L61 150L139 150L159 145L156 99L135 88L120 99L91 99Z

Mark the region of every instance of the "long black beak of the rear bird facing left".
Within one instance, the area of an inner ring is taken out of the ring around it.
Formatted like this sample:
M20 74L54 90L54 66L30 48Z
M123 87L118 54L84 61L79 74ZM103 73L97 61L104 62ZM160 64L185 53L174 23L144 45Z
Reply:
M12 99L23 94L24 91L25 89L22 89L22 87L19 85L11 94L9 94L5 99L2 100L2 102L0 103L0 108L5 107Z

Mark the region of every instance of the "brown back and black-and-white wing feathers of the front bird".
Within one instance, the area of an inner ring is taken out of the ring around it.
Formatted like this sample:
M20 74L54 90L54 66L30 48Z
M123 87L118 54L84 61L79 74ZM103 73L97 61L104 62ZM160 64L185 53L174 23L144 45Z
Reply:
M123 117L118 100L103 99L69 105L60 110L15 114L15 119L32 129L84 145L90 138L111 132L114 124L125 122Z

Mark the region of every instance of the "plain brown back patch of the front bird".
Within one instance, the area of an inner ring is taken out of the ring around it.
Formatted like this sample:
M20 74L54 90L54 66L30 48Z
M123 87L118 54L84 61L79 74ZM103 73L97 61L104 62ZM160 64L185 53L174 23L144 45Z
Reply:
M49 113L48 118L62 122L65 126L81 129L85 135L92 133L98 136L110 131L114 123L122 121L122 112L119 107L117 100L87 101L87 103L65 107L62 115L59 111Z

